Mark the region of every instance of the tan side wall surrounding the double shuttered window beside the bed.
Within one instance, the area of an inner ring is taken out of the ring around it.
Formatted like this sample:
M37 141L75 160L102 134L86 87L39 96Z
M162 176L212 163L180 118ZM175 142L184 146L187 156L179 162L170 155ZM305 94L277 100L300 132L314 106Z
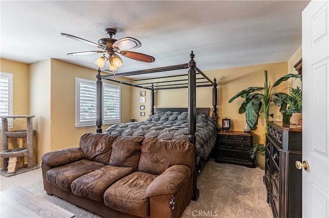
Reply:
M51 59L50 150L79 146L80 137L96 127L75 127L76 77L96 80L97 70ZM119 85L118 83L114 83ZM130 86L121 85L121 121L130 121ZM103 131L109 125L103 125Z

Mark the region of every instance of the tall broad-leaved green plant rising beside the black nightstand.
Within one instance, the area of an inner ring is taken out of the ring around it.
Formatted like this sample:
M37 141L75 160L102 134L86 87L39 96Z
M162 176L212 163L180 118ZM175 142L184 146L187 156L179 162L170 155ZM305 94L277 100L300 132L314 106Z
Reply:
M265 82L264 87L250 87L248 89L242 90L236 95L234 95L228 102L231 103L234 99L237 97L245 98L245 100L242 102L240 108L239 108L239 114L246 113L246 121L251 129L256 129L258 124L258 117L259 112L263 106L264 110L264 131L263 131L263 138L265 141L265 134L267 133L267 121L268 121L268 108L271 101L275 101L278 96L280 96L282 93L273 93L272 89L279 85L281 82L288 80L291 77L300 78L302 77L298 74L287 74L285 76L282 76L279 78L273 85L271 86L271 83L268 84L267 82L267 71L264 71L265 75ZM255 93L256 91L259 91L260 93ZM285 93L283 93L285 94ZM287 94L285 94L287 95ZM286 103L284 101L277 101L279 104L281 103L282 111L286 111L286 108L284 106ZM279 105L278 104L278 105ZM281 109L280 112L282 113Z

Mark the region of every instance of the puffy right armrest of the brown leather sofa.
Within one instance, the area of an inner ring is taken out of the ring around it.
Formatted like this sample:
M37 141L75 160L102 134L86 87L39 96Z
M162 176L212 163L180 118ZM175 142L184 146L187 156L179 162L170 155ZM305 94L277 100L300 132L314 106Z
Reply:
M188 185L191 169L185 165L173 165L151 182L146 195L151 198L161 194L175 194L182 186Z

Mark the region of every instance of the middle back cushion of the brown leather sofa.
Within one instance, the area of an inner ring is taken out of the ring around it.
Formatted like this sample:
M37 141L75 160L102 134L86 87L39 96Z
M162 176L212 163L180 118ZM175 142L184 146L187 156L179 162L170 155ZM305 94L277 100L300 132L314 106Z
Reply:
M119 136L116 138L113 142L109 165L132 167L137 171L143 139L144 137L140 136Z

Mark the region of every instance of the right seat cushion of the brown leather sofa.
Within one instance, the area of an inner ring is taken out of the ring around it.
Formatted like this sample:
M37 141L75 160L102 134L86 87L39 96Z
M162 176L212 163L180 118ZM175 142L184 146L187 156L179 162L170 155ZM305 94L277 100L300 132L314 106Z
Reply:
M146 172L131 173L106 189L104 204L132 215L150 215L150 199L146 197L146 189L156 177Z

